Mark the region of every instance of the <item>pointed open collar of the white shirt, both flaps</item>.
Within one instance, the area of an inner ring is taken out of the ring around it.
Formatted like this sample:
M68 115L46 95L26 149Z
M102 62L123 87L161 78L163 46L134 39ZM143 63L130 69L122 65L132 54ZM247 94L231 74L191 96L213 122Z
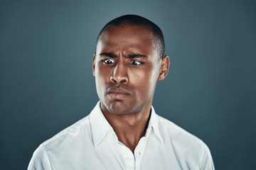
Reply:
M97 102L97 105L90 113L90 123L92 127L92 139L95 147L99 145L99 143L102 141L108 131L112 131L114 133L113 128L111 127L110 123L107 122L107 119L105 118L100 109L100 101ZM153 106L151 106L151 116L148 128L146 130L146 137L151 132L151 129L154 130L156 136L163 143L163 138L161 137L161 133L159 131L159 118L156 115Z

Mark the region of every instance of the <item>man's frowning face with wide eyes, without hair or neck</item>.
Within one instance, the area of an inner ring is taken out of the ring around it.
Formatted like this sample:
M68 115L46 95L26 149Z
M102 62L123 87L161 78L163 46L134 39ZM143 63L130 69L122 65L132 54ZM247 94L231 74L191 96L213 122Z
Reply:
M109 26L102 32L93 75L103 112L131 114L151 106L161 66L153 40L143 26Z

